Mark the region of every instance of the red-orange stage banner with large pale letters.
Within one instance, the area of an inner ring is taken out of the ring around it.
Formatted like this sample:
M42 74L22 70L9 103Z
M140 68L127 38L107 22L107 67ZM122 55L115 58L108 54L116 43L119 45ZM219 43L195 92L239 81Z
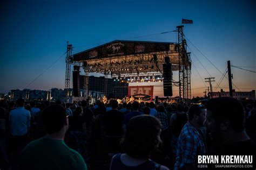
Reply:
M128 87L128 96L133 95L149 95L153 96L154 86L129 86Z

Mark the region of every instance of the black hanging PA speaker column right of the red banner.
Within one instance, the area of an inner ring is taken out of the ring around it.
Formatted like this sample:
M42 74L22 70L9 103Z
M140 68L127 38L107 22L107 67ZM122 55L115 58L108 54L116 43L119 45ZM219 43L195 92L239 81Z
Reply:
M163 64L164 77L164 96L172 96L172 65L171 63Z

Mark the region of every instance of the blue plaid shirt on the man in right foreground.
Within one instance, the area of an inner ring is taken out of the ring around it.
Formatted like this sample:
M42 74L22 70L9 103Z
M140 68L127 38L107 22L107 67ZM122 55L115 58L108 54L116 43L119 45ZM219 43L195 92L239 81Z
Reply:
M198 155L206 154L204 130L196 129L189 121L180 132L174 170L184 168L185 164L197 164Z

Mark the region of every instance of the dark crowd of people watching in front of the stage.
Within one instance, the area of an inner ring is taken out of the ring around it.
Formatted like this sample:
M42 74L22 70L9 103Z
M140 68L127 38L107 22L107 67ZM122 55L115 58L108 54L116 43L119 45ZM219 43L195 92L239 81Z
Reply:
M189 105L1 101L0 169L197 169L198 155L254 155L255 169L255 123L256 102L231 97Z

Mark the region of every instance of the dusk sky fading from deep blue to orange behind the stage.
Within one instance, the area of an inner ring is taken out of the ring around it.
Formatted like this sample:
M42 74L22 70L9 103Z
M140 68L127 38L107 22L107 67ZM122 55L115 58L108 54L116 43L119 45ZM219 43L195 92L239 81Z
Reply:
M217 87L227 60L253 71L231 67L234 89L251 91L256 87L255 2L1 1L0 93L64 88L66 41L73 54L116 39L177 42L176 32L158 33L176 30L182 18L193 20L184 24L187 51L192 52L192 96L204 95L206 77L215 77ZM177 73L173 79L178 80ZM228 91L226 78L215 91L220 88ZM177 88L173 93L178 94Z

